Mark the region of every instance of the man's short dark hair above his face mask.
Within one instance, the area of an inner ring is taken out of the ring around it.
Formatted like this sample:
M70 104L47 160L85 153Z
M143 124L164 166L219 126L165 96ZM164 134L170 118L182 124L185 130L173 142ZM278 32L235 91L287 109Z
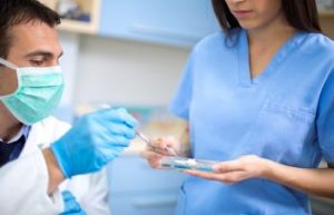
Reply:
M60 23L59 14L37 0L0 0L0 57L7 58L13 36L13 26L40 21L49 27Z

